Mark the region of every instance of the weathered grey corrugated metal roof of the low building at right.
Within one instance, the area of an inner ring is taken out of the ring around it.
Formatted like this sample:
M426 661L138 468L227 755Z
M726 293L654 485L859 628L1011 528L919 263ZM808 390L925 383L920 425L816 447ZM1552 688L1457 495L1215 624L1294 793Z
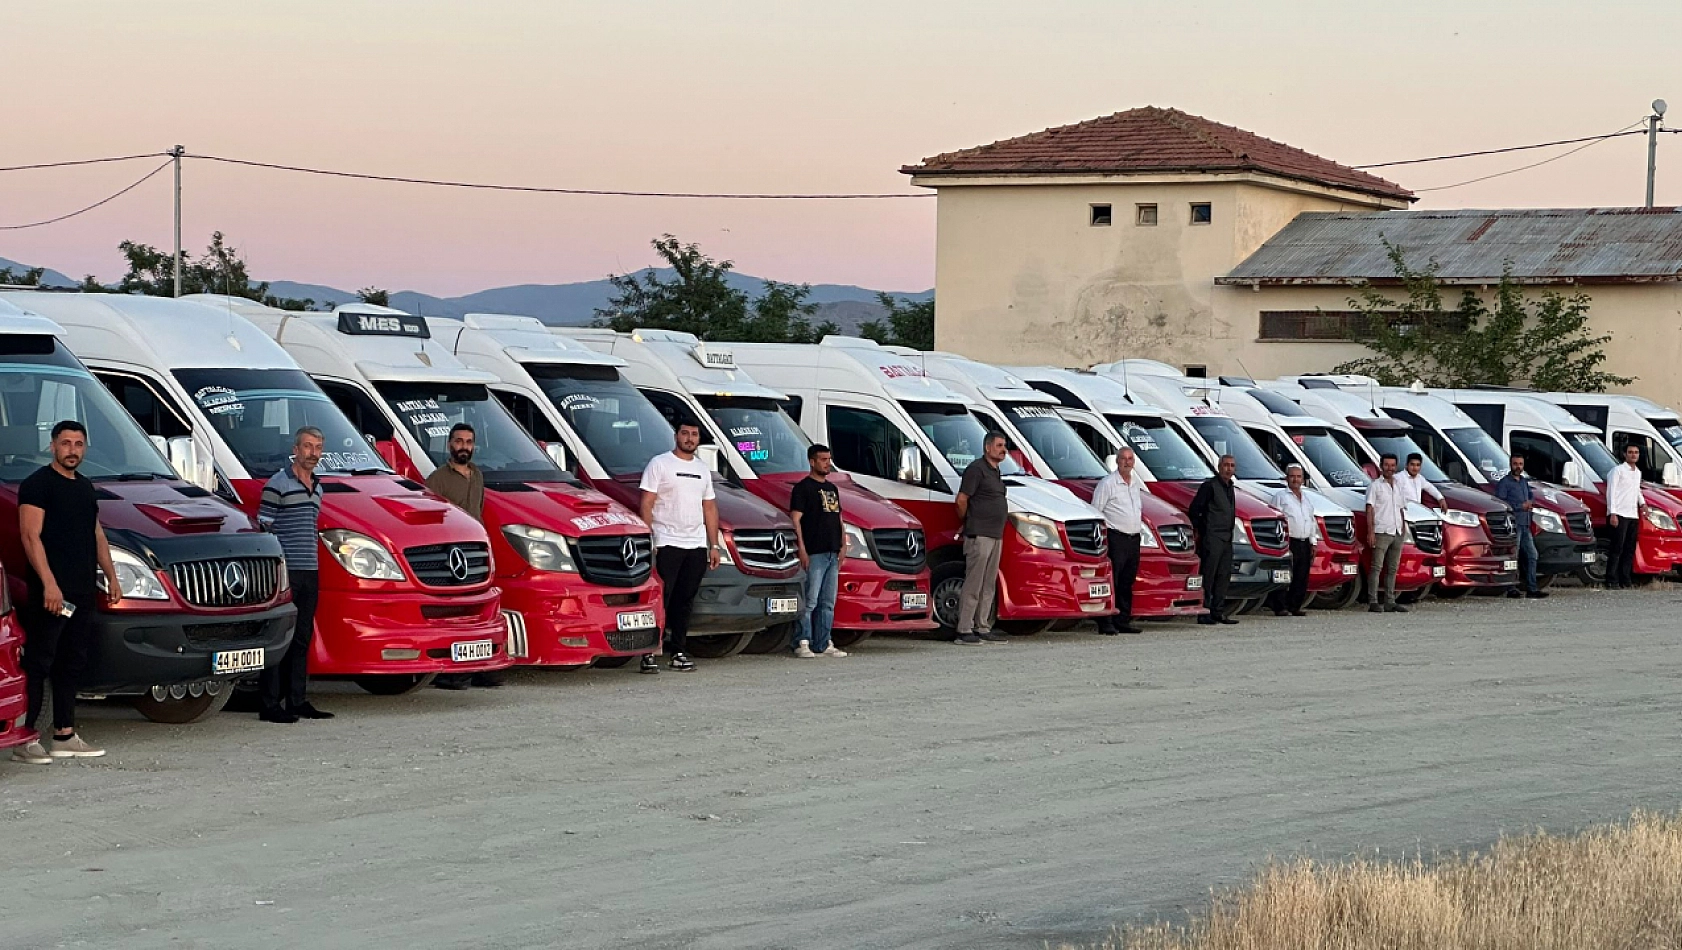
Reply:
M1682 208L1307 212L1218 284L1394 281L1384 244L1443 282L1682 281Z

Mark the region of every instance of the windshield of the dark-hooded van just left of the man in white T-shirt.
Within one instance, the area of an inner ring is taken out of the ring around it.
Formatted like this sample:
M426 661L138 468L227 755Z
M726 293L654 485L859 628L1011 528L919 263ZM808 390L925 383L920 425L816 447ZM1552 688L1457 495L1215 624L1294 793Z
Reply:
M671 451L671 424L614 367L525 368L607 474L641 474L649 459Z

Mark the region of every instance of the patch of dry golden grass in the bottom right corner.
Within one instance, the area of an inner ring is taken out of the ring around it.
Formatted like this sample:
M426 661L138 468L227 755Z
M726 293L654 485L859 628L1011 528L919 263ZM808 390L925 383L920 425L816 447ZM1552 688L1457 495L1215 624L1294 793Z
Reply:
M1682 817L1637 814L1431 863L1272 864L1206 916L1127 928L1090 950L1679 948Z

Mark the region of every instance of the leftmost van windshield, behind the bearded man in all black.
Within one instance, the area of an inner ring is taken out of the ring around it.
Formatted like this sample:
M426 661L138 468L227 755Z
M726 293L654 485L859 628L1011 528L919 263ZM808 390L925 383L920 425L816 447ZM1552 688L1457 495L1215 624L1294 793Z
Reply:
M175 479L140 425L52 336L0 336L0 481L24 481L52 462L52 427L87 427L77 471L91 479Z

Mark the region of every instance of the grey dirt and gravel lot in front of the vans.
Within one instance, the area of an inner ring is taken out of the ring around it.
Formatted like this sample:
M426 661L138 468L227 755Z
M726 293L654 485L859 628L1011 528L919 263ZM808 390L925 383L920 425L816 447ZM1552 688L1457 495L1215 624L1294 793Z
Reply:
M1039 947L1270 854L1675 809L1682 590L1558 590L691 676L520 673L328 723L93 708L0 763L0 945Z

